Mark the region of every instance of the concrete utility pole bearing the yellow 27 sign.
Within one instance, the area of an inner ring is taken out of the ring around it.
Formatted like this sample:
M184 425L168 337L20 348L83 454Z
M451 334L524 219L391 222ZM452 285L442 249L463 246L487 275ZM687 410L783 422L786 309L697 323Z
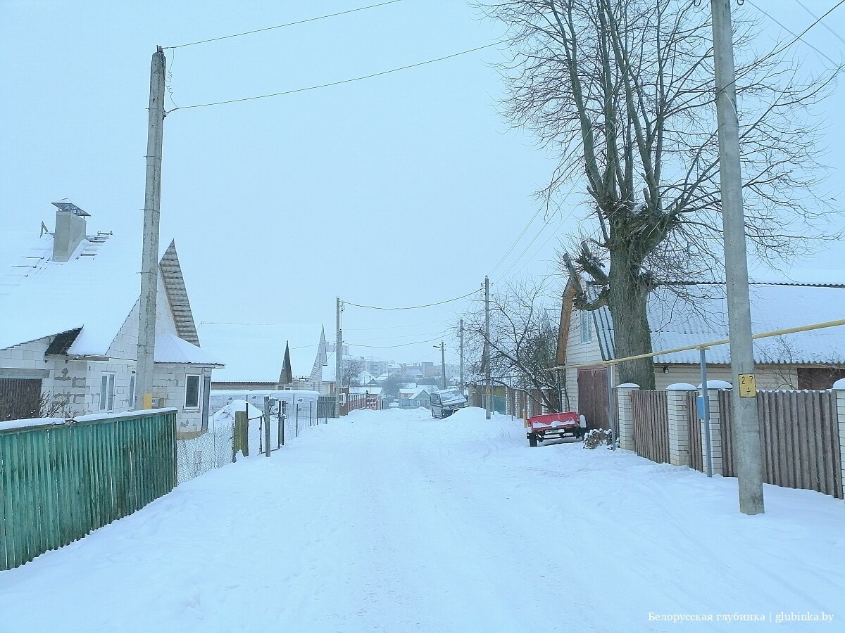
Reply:
M733 376L733 446L739 479L739 511L744 514L760 514L764 511L763 461L760 452L754 349L751 338L731 4L730 0L711 0L710 6L716 66L719 176L722 183L722 228L725 273L728 281L728 334Z

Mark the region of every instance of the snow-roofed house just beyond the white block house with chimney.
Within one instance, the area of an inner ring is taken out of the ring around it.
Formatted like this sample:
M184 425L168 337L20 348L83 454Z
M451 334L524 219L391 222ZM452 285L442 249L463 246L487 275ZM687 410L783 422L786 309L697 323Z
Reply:
M322 326L204 322L199 329L205 346L226 359L226 368L215 372L215 391L320 391L327 362Z

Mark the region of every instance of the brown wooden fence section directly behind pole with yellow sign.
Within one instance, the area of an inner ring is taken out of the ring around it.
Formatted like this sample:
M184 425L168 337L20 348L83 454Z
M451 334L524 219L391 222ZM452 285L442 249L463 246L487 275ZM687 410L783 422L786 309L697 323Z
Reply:
M719 392L722 474L736 476L731 392ZM837 397L831 391L758 392L763 480L842 499Z

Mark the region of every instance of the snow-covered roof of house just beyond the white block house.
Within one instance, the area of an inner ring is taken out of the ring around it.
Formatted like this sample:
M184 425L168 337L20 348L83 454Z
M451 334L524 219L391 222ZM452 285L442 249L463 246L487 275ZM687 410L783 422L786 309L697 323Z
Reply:
M285 368L286 347L292 376L311 376L319 357L321 331L320 325L304 323L199 323L203 349L226 363L226 369L215 371L215 381L221 382L278 382Z

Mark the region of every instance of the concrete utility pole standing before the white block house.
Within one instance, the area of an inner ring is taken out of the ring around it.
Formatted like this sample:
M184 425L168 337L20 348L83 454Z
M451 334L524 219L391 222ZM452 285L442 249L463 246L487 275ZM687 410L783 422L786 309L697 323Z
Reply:
M135 408L152 408L155 360L155 293L158 289L158 240L161 213L161 141L164 134L166 59L156 46L150 67L150 110L147 124L147 180L144 187L144 246L138 323L138 366Z

